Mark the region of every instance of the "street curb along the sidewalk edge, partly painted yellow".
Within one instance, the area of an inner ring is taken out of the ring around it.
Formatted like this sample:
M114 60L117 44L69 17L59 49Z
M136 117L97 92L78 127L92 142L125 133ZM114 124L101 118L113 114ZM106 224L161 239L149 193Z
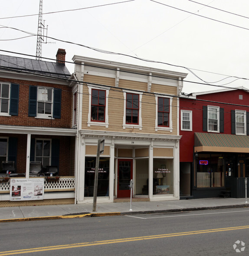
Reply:
M96 213L78 213L67 214L61 216L44 216L44 217L29 217L18 219L0 219L1 222L21 222L21 221L33 221L33 220L49 220L49 219L74 219L84 217L103 217L103 216L124 216L124 215L138 215L138 214L150 214L150 213L163 213L163 212L187 212L187 211L200 211L200 210L212 210L212 209L230 209L230 208L243 208L249 207L249 204L242 205L220 205L220 206L203 206L192 208L179 208L168 210L148 210L148 211L129 211L129 212L96 212Z

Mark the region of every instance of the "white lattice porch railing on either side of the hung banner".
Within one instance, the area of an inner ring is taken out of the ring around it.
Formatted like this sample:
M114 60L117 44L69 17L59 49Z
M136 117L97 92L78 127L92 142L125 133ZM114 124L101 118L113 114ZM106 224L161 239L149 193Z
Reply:
M36 177L37 178L37 177ZM20 178L22 179L22 178ZM25 178L23 178L25 179ZM63 176L56 181L47 181L44 179L45 192L56 191L74 191L75 190L75 177ZM0 193L10 193L10 181L0 182Z

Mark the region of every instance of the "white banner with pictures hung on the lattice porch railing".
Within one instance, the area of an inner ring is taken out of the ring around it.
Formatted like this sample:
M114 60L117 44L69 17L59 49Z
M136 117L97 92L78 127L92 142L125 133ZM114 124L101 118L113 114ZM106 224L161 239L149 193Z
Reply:
M10 179L10 201L42 200L44 179Z

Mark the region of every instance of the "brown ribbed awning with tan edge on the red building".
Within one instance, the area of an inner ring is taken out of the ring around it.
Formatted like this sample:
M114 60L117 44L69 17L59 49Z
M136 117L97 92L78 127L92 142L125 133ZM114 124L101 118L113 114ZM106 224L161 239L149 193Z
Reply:
M203 151L249 153L249 136L196 132L194 152Z

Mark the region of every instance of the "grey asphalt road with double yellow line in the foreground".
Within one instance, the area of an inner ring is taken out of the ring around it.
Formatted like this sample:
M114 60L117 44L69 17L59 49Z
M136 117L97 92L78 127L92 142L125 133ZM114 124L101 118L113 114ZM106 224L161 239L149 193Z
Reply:
M236 249L249 254L249 208L0 223L0 256L236 255Z

